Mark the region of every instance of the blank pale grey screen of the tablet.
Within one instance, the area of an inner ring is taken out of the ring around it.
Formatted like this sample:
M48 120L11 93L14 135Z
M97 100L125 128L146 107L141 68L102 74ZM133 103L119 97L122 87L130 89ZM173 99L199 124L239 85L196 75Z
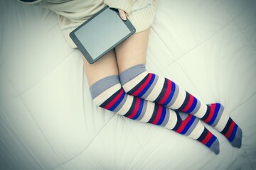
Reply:
M101 23L99 25L99 23ZM75 31L75 36L86 47L93 60L122 40L131 31L117 13L110 8Z

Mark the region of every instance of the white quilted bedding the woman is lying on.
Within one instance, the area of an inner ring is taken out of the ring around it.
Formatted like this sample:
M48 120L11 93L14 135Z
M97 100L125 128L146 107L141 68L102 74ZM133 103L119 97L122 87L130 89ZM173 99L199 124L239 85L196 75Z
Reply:
M0 169L256 169L256 1L160 0L147 67L243 130L242 147L200 142L92 103L82 58L55 13L0 2Z

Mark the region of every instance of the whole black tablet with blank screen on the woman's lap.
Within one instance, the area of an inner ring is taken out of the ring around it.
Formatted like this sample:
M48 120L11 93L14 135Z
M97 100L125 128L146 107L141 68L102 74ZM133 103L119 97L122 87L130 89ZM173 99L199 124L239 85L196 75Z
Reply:
M123 21L116 9L106 6L70 33L82 55L92 64L135 33L127 19Z

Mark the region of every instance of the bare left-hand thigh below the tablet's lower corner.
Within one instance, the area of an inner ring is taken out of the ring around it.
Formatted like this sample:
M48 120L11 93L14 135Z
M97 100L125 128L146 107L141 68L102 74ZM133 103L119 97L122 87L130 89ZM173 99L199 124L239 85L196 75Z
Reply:
M82 53L81 57L89 86L92 86L92 84L95 84L95 82L100 79L119 74L114 50L108 52L107 55L94 64L87 62L85 57L82 56Z

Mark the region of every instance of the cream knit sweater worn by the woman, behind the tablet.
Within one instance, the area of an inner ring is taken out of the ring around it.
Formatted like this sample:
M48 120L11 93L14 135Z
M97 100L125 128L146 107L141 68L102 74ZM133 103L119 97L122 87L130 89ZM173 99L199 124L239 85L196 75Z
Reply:
M21 1L21 0L18 0ZM58 14L60 29L70 47L75 48L75 43L70 39L69 33L80 26L93 14L105 6L124 10L129 21L132 22L137 33L146 30L154 22L158 0L37 0L23 2L23 4L36 4L49 8Z

